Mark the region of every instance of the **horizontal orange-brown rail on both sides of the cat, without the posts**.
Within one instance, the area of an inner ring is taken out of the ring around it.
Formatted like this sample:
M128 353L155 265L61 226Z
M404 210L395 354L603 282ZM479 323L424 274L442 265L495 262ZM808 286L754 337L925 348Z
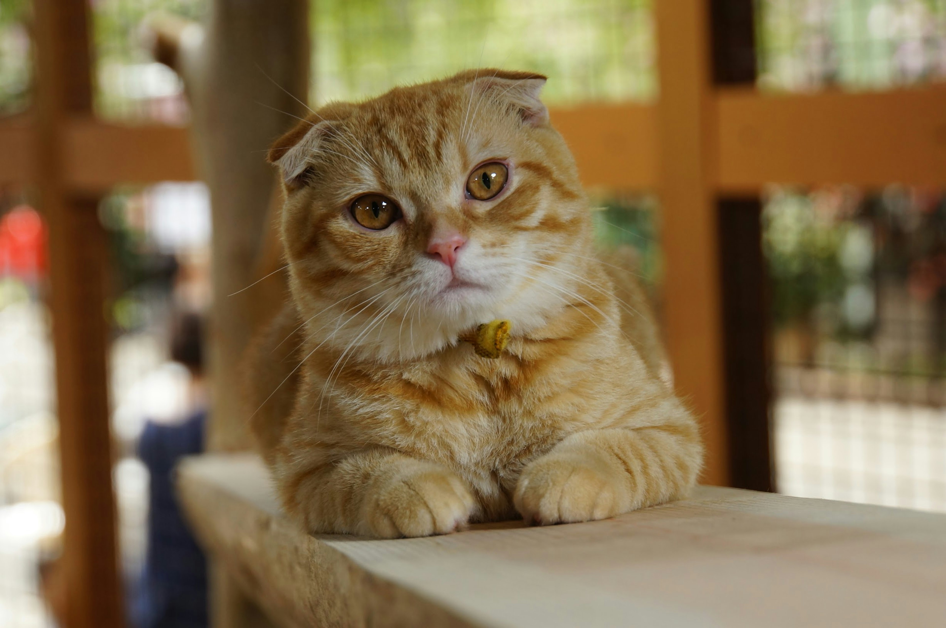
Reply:
M657 105L552 108L589 187L654 192ZM774 182L815 186L946 185L946 86L880 93L770 95L719 89L710 101L721 193L757 195ZM892 124L891 121L896 121ZM32 119L0 119L0 185L32 179ZM188 129L127 127L78 117L65 127L64 176L101 194L120 183L196 178Z

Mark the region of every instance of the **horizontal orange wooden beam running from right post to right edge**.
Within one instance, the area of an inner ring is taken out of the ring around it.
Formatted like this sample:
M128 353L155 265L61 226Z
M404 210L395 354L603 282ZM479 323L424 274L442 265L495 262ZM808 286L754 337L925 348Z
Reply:
M882 93L721 90L716 187L946 185L946 86Z

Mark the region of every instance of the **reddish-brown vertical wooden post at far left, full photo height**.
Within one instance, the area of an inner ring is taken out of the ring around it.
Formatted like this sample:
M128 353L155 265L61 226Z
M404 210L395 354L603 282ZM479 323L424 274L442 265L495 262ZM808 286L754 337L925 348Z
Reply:
M50 303L60 422L62 569L66 628L123 623L115 544L112 451L106 374L104 282L108 243L97 198L63 181L69 116L92 112L88 7L84 0L36 0L37 179L49 225Z

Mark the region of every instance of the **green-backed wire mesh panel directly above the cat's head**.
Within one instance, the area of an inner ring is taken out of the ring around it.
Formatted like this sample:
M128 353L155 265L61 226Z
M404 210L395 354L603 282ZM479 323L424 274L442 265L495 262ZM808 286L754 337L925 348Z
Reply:
M650 0L392 0L313 4L314 100L363 98L465 68L551 77L545 100L655 95Z

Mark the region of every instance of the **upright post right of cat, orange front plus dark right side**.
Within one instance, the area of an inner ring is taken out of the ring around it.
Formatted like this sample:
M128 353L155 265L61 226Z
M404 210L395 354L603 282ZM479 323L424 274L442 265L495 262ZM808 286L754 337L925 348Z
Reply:
M771 488L758 199L715 194L713 90L752 84L752 0L660 0L660 200L668 348L702 418L707 484Z

